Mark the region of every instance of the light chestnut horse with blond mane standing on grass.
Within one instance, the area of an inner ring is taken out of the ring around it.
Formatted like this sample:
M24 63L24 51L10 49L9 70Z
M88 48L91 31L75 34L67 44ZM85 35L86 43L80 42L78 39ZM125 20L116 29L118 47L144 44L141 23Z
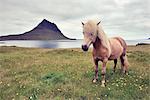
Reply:
M107 38L103 31L100 22L89 20L83 23L84 43L82 49L88 51L88 48L93 44L93 60L95 64L95 76L93 83L98 81L98 62L102 62L102 85L105 87L106 63L108 60L114 60L114 72L117 64L117 59L121 60L121 69L123 73L127 72L128 60L126 56L127 44L120 37Z

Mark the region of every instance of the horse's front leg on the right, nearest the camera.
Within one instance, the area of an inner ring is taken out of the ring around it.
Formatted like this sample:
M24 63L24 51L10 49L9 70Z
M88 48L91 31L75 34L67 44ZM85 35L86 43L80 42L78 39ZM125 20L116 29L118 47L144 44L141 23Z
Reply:
M101 86L102 87L105 87L105 74L106 74L106 63L107 63L107 59L105 59L105 60L103 60L102 61L102 84L101 84Z

